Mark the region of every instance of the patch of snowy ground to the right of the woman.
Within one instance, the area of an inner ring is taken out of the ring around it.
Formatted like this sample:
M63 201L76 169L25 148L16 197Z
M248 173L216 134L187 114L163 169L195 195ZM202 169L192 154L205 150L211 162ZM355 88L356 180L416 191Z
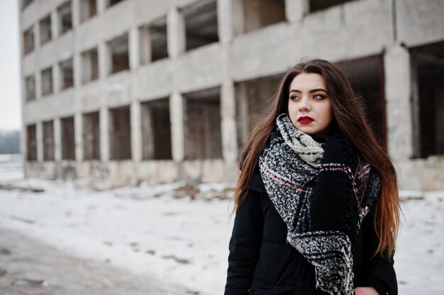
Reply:
M399 294L444 294L444 191L401 191L395 260Z

